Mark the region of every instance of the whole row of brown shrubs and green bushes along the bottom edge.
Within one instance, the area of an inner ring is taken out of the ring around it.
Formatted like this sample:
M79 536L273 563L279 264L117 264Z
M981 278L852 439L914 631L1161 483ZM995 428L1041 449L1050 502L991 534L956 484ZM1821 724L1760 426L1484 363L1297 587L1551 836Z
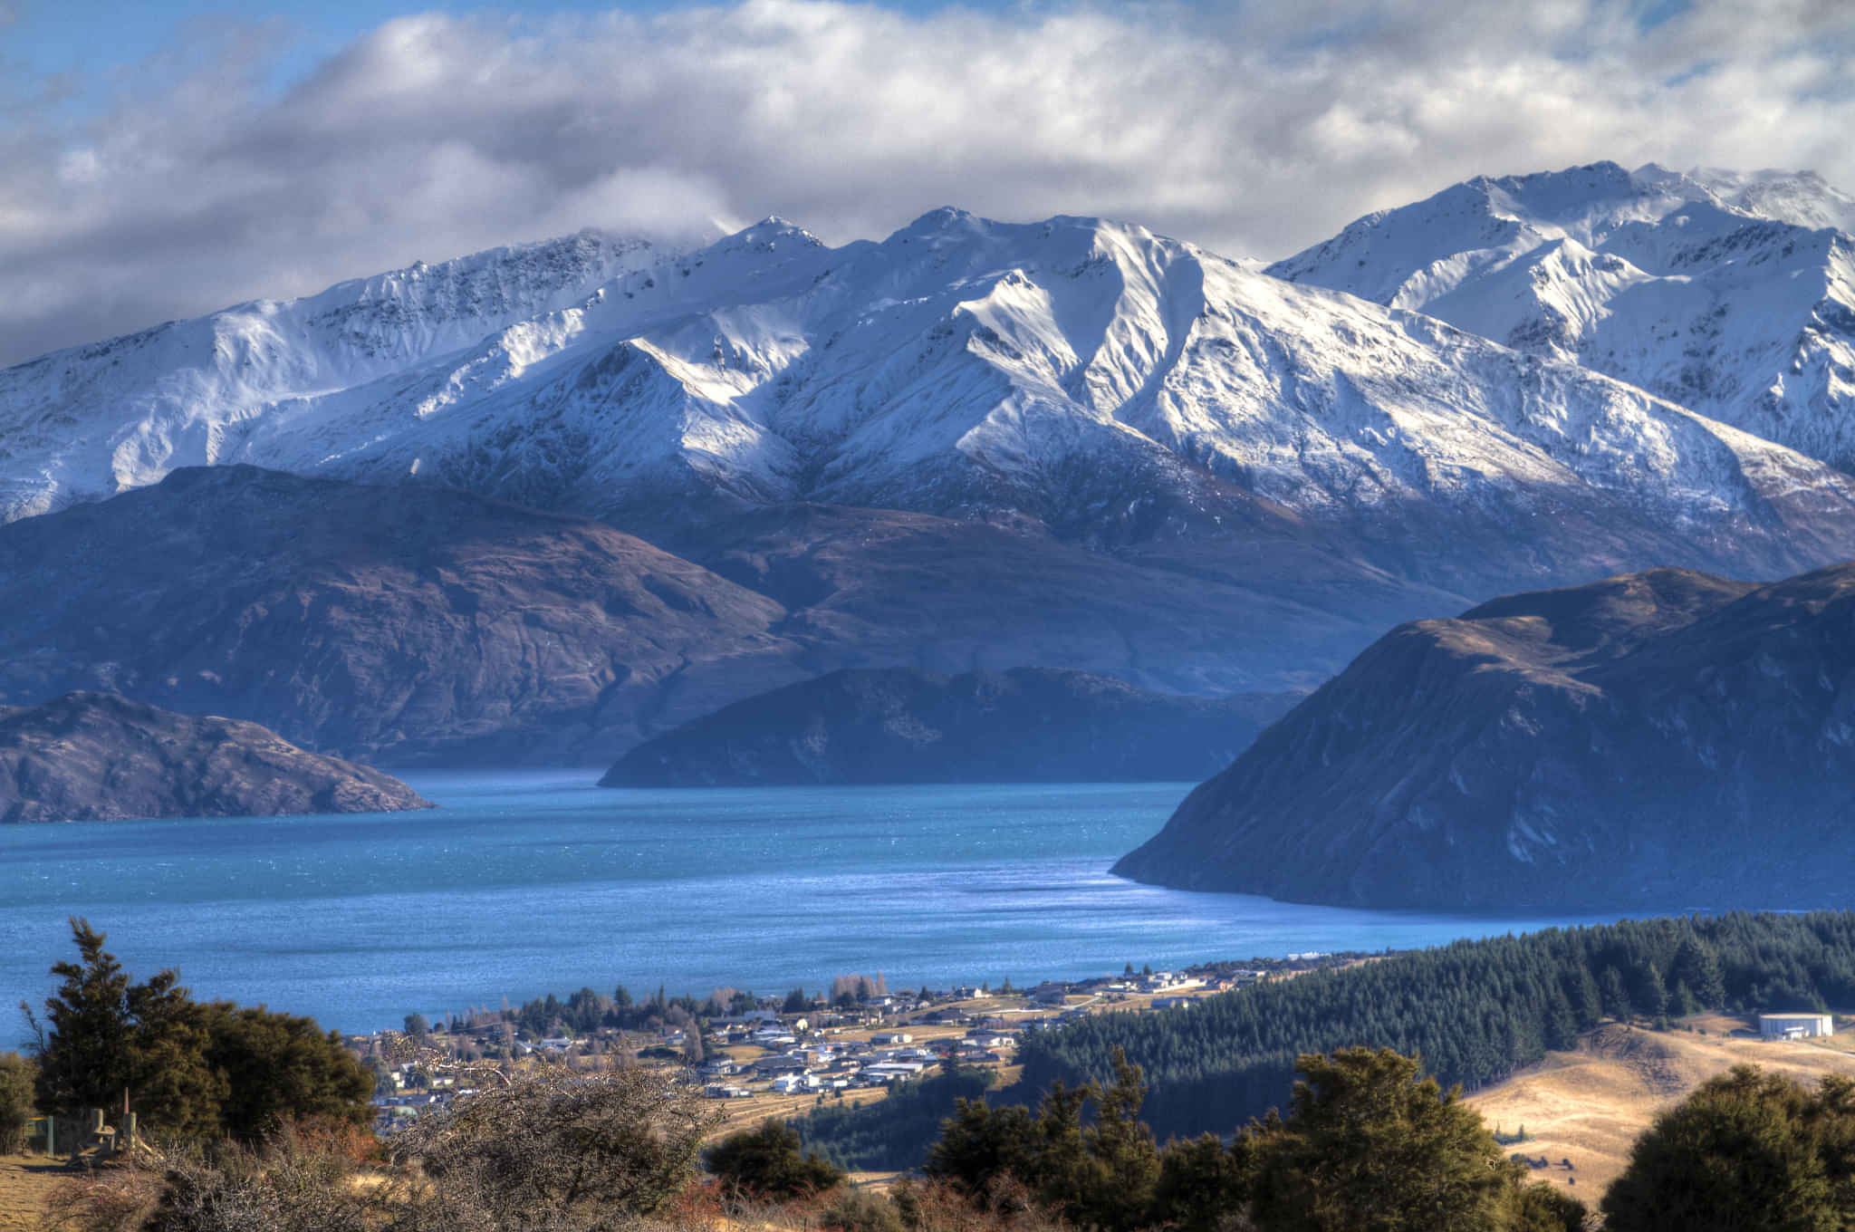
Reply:
M770 1121L710 1150L709 1113L653 1071L542 1072L432 1115L369 1160L351 1126L167 1150L72 1182L65 1232L1577 1232L1480 1117L1412 1058L1306 1056L1286 1113L1156 1147L1141 1074L1054 1087L1031 1113L961 1104L926 1180L848 1189ZM1093 1119L1085 1111L1093 1108ZM1855 1226L1855 1080L1740 1067L1657 1119L1605 1197L1608 1232Z

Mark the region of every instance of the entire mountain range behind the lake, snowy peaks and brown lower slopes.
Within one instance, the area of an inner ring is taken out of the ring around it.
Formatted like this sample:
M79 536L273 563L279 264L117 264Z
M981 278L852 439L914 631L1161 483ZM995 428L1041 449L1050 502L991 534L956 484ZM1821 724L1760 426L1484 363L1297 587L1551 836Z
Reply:
M607 763L838 668L1306 688L1491 594L1796 573L1855 557L1848 225L1799 176L1599 165L1269 269L937 210L835 249L779 219L694 250L582 232L254 301L0 371L0 586L28 603L0 701L119 687L388 761ZM1441 286L1423 258L1491 302L1573 241L1644 278L1580 291L1590 328L1551 345L1401 289ZM1339 286L1347 262L1380 273ZM1731 353L1707 388L1770 391L1792 343L1783 432L1603 360Z

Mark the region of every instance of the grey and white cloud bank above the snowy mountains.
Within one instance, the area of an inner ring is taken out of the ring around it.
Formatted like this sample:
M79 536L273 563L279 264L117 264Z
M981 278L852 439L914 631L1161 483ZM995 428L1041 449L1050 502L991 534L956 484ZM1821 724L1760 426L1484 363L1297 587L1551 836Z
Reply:
M223 30L121 74L102 108L0 119L0 362L588 225L675 239L781 213L846 241L959 204L1106 213L1273 258L1469 174L1601 158L1855 186L1851 6L1647 13L427 13L282 95L275 32Z

